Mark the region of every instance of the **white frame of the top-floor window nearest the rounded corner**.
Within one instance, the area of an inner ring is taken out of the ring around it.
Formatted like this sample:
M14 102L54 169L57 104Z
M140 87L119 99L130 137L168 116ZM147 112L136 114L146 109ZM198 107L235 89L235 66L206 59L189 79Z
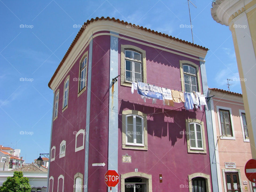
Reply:
M137 62L137 63L140 63L141 64L141 81L143 81L143 72L142 72L142 53L140 53L139 51L135 51L135 50L132 50L132 49L125 49L125 53L126 53L126 51L132 51L132 57L133 58L128 58L128 57L126 57L125 56L125 81L126 82L129 82L129 83L131 83L131 82L136 82L135 81L135 68L134 68L134 62ZM136 59L134 59L134 52L136 52L136 53L138 53L138 54L140 54L141 55L141 61L138 61L138 60L136 60ZM132 81L129 81L129 80L126 80L126 60L127 61L131 61L132 62L132 71L130 71L131 73L132 73Z

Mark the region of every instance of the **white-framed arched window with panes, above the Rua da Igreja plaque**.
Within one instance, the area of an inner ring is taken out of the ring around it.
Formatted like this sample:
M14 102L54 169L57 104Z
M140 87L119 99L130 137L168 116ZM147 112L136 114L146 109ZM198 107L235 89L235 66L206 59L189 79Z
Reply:
M144 145L143 117L126 115L126 143L129 145Z

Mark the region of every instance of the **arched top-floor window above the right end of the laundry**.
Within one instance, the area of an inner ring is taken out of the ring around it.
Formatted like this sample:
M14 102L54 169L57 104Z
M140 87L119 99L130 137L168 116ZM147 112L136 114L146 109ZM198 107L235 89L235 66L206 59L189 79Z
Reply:
M193 92L197 89L197 69L191 65L183 65L185 91Z

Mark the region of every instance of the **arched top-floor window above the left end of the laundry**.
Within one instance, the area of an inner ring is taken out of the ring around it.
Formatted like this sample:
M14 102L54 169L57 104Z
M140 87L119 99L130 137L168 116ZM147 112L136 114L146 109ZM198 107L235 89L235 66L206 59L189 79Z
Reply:
M125 50L125 81L137 82L142 80L141 53L133 50Z

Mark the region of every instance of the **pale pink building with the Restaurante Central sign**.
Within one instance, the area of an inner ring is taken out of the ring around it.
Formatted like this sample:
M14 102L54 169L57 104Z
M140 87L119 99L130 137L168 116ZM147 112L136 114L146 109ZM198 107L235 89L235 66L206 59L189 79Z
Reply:
M215 88L210 94L219 191L254 192L245 176L252 157L242 94Z

